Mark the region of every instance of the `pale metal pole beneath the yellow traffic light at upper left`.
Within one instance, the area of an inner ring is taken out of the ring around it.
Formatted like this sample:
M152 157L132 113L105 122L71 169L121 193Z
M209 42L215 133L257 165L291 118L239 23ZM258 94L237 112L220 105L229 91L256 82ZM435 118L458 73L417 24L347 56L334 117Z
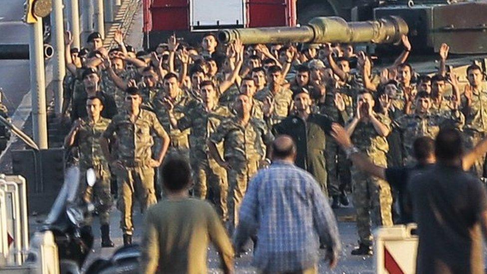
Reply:
M47 149L47 117L45 99L44 52L42 36L42 18L31 24L30 92L32 94L32 135L40 149Z

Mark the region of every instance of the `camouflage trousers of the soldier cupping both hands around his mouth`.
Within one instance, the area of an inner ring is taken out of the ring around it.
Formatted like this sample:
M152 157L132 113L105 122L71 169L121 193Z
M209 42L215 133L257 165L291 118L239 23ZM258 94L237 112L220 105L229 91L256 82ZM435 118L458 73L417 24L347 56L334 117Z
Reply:
M381 159L379 159L381 158ZM384 157L375 157L376 165L387 166ZM353 204L357 213L359 242L372 245L371 221L379 226L392 226L391 187L384 181L352 168ZM373 213L371 216L371 212Z

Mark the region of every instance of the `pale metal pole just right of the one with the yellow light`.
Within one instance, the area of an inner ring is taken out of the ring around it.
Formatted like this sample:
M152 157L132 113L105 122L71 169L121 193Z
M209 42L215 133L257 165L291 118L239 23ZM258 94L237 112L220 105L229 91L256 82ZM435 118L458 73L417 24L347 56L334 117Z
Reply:
M64 74L66 73L64 63L64 27L62 9L62 0L52 1L51 25L54 46L52 85L54 92L54 111L56 114L60 114L62 109L62 81L64 79Z

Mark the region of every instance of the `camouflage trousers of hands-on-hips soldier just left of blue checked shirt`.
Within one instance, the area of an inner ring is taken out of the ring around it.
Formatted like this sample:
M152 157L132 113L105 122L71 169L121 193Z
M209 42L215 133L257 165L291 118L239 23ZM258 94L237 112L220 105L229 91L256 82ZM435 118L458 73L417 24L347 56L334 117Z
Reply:
M229 211L229 233L232 234L239 224L239 210L243 196L247 191L247 184L257 173L258 159L242 161L229 161L231 169L227 171L228 211Z

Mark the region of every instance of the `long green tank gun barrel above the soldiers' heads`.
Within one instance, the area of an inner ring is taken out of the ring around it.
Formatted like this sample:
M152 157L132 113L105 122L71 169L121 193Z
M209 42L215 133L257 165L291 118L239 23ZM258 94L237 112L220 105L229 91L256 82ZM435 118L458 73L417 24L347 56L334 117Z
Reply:
M243 44L260 43L397 43L409 31L401 17L388 16L377 20L347 22L341 17L315 17L299 27L256 27L222 29L218 39L231 43L240 39Z

